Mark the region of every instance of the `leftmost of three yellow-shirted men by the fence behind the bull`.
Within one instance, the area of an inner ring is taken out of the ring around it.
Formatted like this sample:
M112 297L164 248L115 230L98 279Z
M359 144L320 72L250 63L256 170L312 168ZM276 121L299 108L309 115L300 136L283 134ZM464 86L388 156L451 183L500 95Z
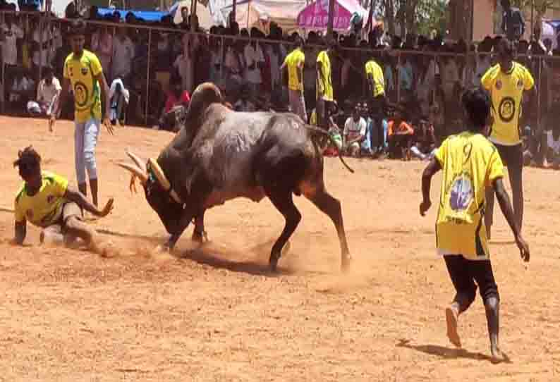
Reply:
M280 71L288 67L288 91L292 113L296 113L303 122L308 122L308 114L305 111L305 99L303 98L303 64L305 54L303 53L303 39L296 37L296 49L286 56Z

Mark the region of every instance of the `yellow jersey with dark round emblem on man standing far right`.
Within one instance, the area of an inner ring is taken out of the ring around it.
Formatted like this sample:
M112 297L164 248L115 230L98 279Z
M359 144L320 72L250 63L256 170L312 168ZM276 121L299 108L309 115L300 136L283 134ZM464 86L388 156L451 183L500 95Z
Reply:
M511 70L505 73L498 63L487 70L480 82L492 96L494 124L489 140L504 146L520 144L519 117L523 91L530 90L535 85L531 73L515 61Z

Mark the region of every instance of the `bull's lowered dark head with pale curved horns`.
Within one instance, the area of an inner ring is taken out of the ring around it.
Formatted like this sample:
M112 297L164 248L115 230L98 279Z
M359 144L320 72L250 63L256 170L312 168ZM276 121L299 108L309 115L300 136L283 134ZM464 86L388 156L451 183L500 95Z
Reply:
M167 232L176 233L178 221L183 213L181 198L171 188L157 161L150 158L144 164L135 154L128 151L126 154L132 159L133 164L118 163L117 165L130 171L130 192L136 192L136 179L140 180L150 207L156 211Z

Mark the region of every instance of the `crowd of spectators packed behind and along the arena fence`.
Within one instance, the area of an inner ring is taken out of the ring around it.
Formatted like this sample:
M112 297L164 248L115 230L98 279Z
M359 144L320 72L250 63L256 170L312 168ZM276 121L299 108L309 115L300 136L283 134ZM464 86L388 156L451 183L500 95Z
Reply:
M2 1L0 9L14 10ZM115 120L125 115L128 124L169 128L176 106L187 106L195 87L206 81L219 85L236 110L288 110L287 78L280 68L297 33L286 34L270 23L265 35L255 27L240 30L231 21L229 27L203 30L188 8L180 11L183 22L177 25L172 16L157 22L136 18L131 12L124 20L117 11L100 16L95 6L82 15L90 21L86 49L102 62L107 82L117 90L111 95L123 96L120 103L111 99L115 108L119 105ZM71 3L65 18L78 16ZM3 13L0 101L4 113L49 112L70 53L63 38L66 27L64 20L54 16L39 28L38 14ZM369 33L335 32L334 37L337 45L331 66L336 111L332 121L339 126L342 140L349 142L343 146L345 154L375 155L373 148L382 147L382 155L401 159L429 159L444 137L462 128L461 92L480 85L482 75L495 63L492 53L502 38L486 37L471 45L437 35L409 34L403 40L388 37L380 26ZM321 33L305 36L303 93L310 118L316 102L315 63L324 49ZM527 100L520 125L528 161L536 164L555 161L560 154L559 129L552 118L560 104L560 60L554 56L560 56L560 51L553 51L552 42L543 41L538 29L532 41L518 43L517 61L537 81L538 99ZM372 118L365 106L369 91L364 67L371 58L382 67L386 97L395 105L382 120L384 133L376 138L381 142L373 142ZM39 78L39 67L44 68L43 78ZM64 113L71 118L71 103Z

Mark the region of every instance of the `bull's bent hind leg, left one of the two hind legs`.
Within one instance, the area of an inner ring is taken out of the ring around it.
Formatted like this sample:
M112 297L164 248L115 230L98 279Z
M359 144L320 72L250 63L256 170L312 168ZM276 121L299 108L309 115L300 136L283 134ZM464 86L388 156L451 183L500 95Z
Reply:
M293 231L295 231L298 227L298 224L301 221L301 214L300 211L298 211L296 204L293 204L291 191L272 190L267 192L267 196L272 204L274 204L274 207L276 207L276 209L278 209L278 211L280 211L286 219L286 226L284 226L284 230L282 231L280 237L272 246L272 251L270 253L270 269L275 272L276 266L278 265L278 261L282 254L282 248L284 248L284 245L288 242L289 238L293 234Z

